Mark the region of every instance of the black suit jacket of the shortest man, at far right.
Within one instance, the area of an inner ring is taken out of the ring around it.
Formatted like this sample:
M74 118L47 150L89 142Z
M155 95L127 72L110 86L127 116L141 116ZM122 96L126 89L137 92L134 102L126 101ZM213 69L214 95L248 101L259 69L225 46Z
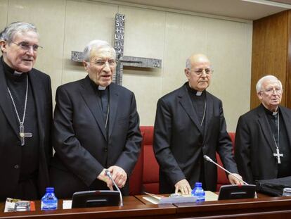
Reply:
M280 106L287 138L291 142L291 110ZM289 145L288 145L289 146ZM264 106L241 115L235 132L235 161L238 171L248 183L274 179L278 175L276 145Z

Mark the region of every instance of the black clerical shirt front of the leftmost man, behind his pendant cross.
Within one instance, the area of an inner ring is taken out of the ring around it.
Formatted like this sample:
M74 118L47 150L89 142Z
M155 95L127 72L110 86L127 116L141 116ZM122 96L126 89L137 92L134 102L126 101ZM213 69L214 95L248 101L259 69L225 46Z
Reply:
M4 62L3 58L1 58L1 65L3 65L4 67L6 83L11 91L11 95L13 96L15 106L18 111L18 115L20 117L20 120L22 121L25 108L27 77L29 73L22 73L21 75L15 74L14 70ZM11 98L9 97L9 99ZM20 124L15 113L15 108L13 106L12 100L10 103L7 104L12 105L13 113L17 121L15 126L17 127L17 130L19 130ZM32 137L25 138L24 146L19 145L19 149L21 150L19 179L20 183L27 180L36 180L37 172L39 169L39 130L37 125L37 111L30 80L28 80L27 108L25 113L24 127L25 132L32 133Z

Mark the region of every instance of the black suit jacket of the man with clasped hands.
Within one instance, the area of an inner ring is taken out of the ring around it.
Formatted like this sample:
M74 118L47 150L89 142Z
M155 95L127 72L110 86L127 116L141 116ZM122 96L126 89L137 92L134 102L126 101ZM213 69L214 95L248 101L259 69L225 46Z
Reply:
M141 144L134 93L110 84L108 136L97 95L87 76L58 87L54 113L51 181L62 198L88 189L108 189L96 180L103 168L117 165L127 176L137 161ZM125 187L128 189L128 186ZM124 194L128 194L124 190Z

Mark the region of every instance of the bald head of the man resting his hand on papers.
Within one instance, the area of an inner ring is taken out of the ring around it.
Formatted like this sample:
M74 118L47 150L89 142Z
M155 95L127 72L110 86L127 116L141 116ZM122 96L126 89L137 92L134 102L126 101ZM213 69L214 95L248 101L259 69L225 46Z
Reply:
M184 71L190 87L198 92L207 89L212 77L212 68L207 56L204 54L193 54L187 59Z

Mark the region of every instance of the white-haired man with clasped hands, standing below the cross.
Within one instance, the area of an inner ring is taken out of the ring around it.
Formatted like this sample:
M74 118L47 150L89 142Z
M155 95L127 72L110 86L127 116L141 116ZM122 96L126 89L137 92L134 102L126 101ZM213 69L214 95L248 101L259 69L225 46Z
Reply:
M134 93L112 83L115 56L107 42L90 42L83 61L88 75L57 89L51 182L58 197L112 189L106 169L122 193L129 194L142 137Z

